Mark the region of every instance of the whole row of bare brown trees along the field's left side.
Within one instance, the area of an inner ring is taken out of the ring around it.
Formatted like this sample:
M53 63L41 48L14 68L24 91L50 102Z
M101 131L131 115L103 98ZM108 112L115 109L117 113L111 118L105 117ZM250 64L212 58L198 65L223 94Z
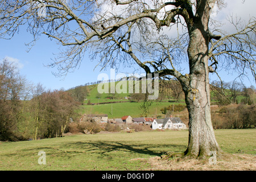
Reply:
M14 63L0 63L0 140L61 137L78 105L72 93L34 86Z

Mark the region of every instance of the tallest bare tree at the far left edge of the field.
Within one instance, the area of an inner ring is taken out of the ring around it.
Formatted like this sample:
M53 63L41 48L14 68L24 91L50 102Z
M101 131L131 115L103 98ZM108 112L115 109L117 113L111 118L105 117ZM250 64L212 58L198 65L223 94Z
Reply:
M27 91L26 91L27 90ZM30 88L28 81L19 75L14 63L3 59L0 63L0 140L19 140L19 122L24 120L23 103Z

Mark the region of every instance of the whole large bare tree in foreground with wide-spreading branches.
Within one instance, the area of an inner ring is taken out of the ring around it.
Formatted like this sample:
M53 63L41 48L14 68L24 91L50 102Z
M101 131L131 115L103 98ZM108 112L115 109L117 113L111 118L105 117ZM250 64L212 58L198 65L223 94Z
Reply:
M51 64L58 66L59 75L76 68L91 51L102 68L136 63L153 76L175 77L189 113L184 154L220 155L210 118L209 73L228 65L241 73L250 69L255 77L255 18L242 28L239 21L230 20L237 31L215 35L210 13L214 5L223 4L222 0L1 1L0 36L11 38L25 25L34 41L42 34L55 39L63 46ZM180 71L181 63L187 64L189 73Z

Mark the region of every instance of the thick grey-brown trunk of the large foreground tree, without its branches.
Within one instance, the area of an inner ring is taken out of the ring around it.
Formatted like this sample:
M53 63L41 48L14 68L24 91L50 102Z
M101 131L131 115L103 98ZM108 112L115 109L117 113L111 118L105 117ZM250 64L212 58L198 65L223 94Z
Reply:
M209 36L202 22L195 27L189 32L190 73L186 88L183 86L189 113L189 141L185 155L209 156L211 151L220 155L210 117Z

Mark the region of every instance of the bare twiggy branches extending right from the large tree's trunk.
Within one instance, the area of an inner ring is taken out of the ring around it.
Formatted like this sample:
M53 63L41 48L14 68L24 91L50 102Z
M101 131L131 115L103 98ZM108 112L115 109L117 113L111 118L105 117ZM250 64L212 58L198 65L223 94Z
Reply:
M212 42L209 53L213 63L210 66L215 65L215 71L217 71L218 64L222 64L221 67L233 68L240 73L245 73L245 69L248 69L256 81L256 20L252 17L241 29L238 27L241 26L240 22L235 23L233 18L231 22L237 32L224 35L221 39Z

